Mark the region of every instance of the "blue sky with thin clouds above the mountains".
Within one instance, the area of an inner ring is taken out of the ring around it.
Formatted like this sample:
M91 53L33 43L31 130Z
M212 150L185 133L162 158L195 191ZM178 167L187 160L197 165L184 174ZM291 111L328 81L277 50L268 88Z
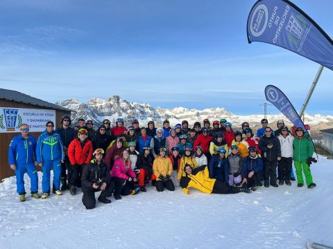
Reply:
M120 95L153 107L262 113L267 84L297 110L319 65L246 38L255 1L0 1L0 87L49 102ZM293 1L333 36L333 1ZM325 68L307 108L333 115ZM274 107L268 112L276 113Z

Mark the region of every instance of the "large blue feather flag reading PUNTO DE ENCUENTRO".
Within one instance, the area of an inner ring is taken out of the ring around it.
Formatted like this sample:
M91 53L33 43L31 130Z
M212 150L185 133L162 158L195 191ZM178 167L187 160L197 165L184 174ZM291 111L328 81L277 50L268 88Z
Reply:
M248 15L248 43L266 42L333 70L333 41L314 20L287 0L259 0Z

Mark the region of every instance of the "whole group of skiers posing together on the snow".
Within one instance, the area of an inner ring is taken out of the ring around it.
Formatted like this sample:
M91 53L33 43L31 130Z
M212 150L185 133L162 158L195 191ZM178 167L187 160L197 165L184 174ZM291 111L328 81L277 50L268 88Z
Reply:
M107 197L146 192L151 182L158 192L182 187L189 194L189 187L205 193L234 194L253 192L258 186L278 187L291 185L292 163L296 167L298 187L315 187L309 165L313 161L314 147L301 127L292 135L283 120L278 129L262 128L255 134L248 122L241 124L241 131L233 131L232 124L224 118L194 122L183 120L175 127L164 120L156 128L153 121L139 127L133 120L124 127L122 118L111 127L110 120L103 120L94 129L92 120L78 120L71 127L71 118L63 116L60 127L54 129L52 121L35 140L29 135L28 124L22 124L20 134L12 139L8 161L15 170L19 201L26 200L24 173L31 178L31 195L46 199L51 193L50 176L53 169L52 192L61 195L69 190L76 194L81 187L85 208L96 205L98 200L110 203ZM38 194L37 166L42 168L42 196ZM277 176L278 169L278 176Z

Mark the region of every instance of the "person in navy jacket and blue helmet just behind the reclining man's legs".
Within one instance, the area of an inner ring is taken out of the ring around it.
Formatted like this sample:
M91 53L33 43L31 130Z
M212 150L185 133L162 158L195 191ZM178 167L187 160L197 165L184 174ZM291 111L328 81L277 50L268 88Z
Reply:
M223 183L228 183L229 162L225 158L227 151L223 148L219 148L216 152L216 154L213 154L208 167L210 178L219 180Z

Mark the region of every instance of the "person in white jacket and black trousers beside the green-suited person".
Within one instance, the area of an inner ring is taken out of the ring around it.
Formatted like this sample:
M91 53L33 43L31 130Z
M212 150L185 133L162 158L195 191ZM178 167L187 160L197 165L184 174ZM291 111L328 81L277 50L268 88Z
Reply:
M284 182L290 186L290 174L293 164L293 136L287 126L282 127L281 135L278 136L281 145L281 160L278 163L279 185Z

